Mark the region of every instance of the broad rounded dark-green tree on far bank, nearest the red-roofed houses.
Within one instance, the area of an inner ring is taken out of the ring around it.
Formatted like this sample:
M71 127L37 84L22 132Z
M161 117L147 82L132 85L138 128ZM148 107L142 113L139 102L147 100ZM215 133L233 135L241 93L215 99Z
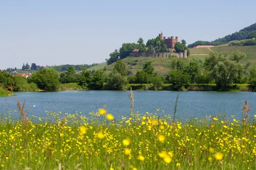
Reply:
M53 68L39 70L32 75L29 81L37 84L40 89L50 91L58 89L60 84L59 73Z

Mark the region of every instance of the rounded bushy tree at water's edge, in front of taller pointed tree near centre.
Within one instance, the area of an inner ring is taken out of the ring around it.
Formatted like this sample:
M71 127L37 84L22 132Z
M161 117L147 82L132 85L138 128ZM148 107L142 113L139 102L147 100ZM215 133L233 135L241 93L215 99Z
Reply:
M105 80L106 84L104 85L104 89L109 90L120 90L123 89L128 83L127 77L122 76L115 69L106 76Z

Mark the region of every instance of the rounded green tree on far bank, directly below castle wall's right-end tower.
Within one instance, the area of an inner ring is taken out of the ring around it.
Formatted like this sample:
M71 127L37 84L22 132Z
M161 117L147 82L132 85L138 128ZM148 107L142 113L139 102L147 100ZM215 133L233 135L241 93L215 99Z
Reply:
M169 82L172 83L174 89L180 89L182 86L188 87L191 76L181 70L172 70L169 72Z

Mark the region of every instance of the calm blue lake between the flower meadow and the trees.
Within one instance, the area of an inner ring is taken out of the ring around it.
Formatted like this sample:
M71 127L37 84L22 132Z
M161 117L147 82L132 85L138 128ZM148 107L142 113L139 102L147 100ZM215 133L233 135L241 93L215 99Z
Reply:
M130 91L63 91L63 92L14 92L17 96L0 97L0 113L17 110L17 100L25 102L28 117L46 117L45 111L76 113L97 112L106 104L107 112L128 116L131 102ZM252 109L250 118L255 114L256 95L254 92L175 92L175 91L133 91L134 112L156 112L162 115L173 114L177 94L176 115L180 119L202 118L207 115L227 114L241 118L244 101ZM18 116L18 113L17 113Z

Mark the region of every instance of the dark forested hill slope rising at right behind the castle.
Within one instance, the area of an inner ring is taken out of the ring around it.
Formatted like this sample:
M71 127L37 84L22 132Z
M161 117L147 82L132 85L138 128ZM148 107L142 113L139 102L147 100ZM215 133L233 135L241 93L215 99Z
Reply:
M256 23L254 23L244 29L241 29L239 32L235 32L231 35L226 35L225 37L218 38L214 41L209 42L209 41L198 40L195 43L189 44L188 47L192 48L194 46L200 46L200 45L218 46L218 45L225 44L225 43L228 43L233 40L243 40L243 39L251 38L249 35L255 30L256 30Z

